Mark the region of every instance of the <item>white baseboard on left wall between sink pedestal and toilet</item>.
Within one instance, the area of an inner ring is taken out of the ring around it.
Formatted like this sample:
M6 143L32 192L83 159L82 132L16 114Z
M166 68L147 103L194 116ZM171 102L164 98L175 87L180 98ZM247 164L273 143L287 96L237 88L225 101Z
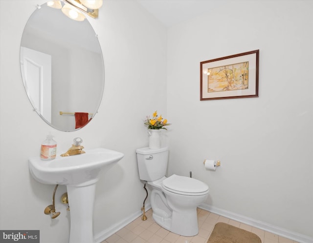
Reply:
M151 204L147 203L145 205L146 211L148 211L151 208ZM95 234L94 236L94 242L95 243L101 243L103 242L105 239L109 238L110 236L112 236L114 233L116 233L117 231L119 231L121 228L125 227L127 224L132 223L135 219L137 219L140 215L142 215L142 211L137 211L134 214L130 215L129 217L121 220L118 223L115 223L114 225L112 225L110 228L107 228L103 231L101 231L98 234Z

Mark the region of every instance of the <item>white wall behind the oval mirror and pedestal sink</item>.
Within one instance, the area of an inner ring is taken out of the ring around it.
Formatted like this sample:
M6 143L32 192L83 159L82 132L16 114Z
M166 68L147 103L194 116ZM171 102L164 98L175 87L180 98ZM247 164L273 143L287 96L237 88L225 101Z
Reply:
M36 182L27 159L39 154L49 131L66 151L73 138L86 148L105 147L125 157L98 182L94 234L140 213L145 191L139 181L135 149L148 145L143 121L155 110L166 115L166 29L135 1L104 1L99 18L89 21L104 55L105 90L98 114L83 129L61 132L32 111L20 72L20 43L26 21L44 0L0 0L0 228L39 229L42 243L67 243L69 212L51 220L44 209L54 186ZM143 21L144 20L144 21ZM156 102L157 101L157 102Z

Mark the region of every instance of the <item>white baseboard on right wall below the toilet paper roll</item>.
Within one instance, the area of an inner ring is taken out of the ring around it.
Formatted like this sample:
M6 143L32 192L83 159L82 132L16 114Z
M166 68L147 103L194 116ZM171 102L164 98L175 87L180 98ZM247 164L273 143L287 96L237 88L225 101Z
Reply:
M313 238L310 236L302 235L296 232L291 232L290 230L277 227L275 225L264 223L255 219L248 218L243 215L239 215L236 213L232 213L230 211L226 211L224 209L220 209L214 206L210 206L208 204L202 203L199 208L207 210L209 212L224 216L228 219L232 219L241 223L246 223L250 226L263 229L265 231L271 232L275 235L280 235L282 237L291 239L293 241L299 242L299 243L313 243Z

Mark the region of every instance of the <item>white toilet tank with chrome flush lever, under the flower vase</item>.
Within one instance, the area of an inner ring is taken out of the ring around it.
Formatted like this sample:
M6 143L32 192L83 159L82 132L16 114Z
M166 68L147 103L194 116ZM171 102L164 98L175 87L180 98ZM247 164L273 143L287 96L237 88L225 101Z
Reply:
M165 176L168 162L168 147L136 149L139 178L152 182Z

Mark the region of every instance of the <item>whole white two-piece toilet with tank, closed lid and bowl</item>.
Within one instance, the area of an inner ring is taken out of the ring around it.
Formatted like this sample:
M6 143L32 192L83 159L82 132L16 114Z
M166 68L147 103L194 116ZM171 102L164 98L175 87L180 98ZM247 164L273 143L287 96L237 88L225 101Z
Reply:
M209 187L185 176L165 177L168 147L136 149L139 178L152 186L153 219L161 227L182 236L199 232L197 206L205 201Z

